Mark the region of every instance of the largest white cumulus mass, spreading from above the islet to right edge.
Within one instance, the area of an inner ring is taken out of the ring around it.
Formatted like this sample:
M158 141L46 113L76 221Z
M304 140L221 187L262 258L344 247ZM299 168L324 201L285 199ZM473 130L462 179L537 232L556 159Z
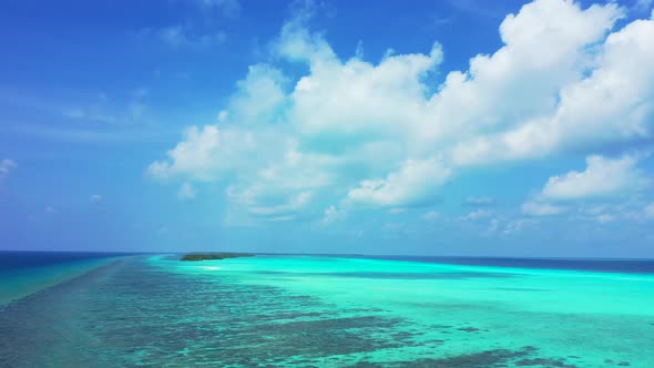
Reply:
M221 183L232 209L253 216L319 218L335 204L431 204L447 181L479 164L647 140L654 21L613 30L625 11L535 0L502 21L501 48L442 73L438 42L376 63L362 51L341 58L309 29L305 10L270 43L268 62L236 84L218 122L190 127L149 173ZM287 72L289 63L306 72ZM531 201L522 211L563 207Z

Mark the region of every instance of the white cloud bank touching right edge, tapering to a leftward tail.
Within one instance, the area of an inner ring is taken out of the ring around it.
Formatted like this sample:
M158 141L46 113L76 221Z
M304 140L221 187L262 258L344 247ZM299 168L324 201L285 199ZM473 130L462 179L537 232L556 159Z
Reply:
M615 10L609 19L620 13ZM582 50L586 62L578 60L574 65L584 68L555 91L553 96L559 101L553 109L527 116L508 130L461 143L453 152L454 161L479 164L528 159L651 137L654 70L648 65L654 64L654 21L635 20L599 47Z

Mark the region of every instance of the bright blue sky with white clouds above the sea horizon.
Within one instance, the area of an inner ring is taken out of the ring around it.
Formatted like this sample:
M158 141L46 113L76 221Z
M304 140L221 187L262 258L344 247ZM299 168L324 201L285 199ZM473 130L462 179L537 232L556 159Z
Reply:
M2 1L0 249L654 257L654 11Z

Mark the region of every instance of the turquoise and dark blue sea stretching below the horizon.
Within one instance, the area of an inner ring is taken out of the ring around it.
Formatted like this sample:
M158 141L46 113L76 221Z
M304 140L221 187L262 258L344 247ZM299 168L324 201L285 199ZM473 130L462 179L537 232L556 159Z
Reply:
M69 255L0 253L0 367L654 367L652 260Z

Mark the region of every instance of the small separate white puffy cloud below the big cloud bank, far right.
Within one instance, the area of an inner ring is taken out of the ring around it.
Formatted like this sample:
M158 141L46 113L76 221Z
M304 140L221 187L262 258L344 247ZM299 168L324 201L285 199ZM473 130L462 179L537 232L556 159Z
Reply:
M646 180L636 168L636 163L637 159L630 155L621 159L589 156L583 172L571 171L550 177L541 195L549 200L578 200L638 190Z

